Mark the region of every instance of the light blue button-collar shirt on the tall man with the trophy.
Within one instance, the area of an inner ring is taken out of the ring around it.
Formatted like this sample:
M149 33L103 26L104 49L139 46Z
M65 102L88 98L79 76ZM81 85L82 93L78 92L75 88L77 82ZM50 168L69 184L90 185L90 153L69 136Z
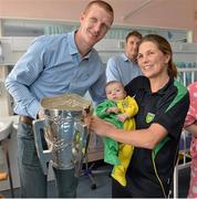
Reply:
M105 98L104 65L94 49L81 56L74 33L39 36L17 62L6 80L17 114L35 118L43 97L64 93Z

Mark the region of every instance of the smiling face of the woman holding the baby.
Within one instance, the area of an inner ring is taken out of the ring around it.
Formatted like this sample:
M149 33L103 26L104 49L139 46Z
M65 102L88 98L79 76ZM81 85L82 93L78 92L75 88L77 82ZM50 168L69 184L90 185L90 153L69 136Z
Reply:
M164 54L155 43L145 41L139 45L137 62L148 78L167 74L169 54Z

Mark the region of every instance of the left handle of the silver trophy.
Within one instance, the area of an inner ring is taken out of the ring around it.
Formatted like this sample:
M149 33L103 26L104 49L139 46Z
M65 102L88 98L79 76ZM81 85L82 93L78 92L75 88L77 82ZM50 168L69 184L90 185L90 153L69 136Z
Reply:
M44 121L33 121L33 134L35 140L37 153L40 159L41 168L44 175L48 175L48 163L52 159L52 153L43 150L41 133L44 130Z

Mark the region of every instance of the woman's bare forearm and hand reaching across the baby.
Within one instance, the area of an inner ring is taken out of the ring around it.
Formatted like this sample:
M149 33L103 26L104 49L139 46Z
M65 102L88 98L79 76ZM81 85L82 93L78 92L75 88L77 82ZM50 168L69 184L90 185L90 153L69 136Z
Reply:
M167 135L167 130L159 124L152 124L145 129L124 130L96 116L91 118L90 128L100 136L148 149L154 148Z

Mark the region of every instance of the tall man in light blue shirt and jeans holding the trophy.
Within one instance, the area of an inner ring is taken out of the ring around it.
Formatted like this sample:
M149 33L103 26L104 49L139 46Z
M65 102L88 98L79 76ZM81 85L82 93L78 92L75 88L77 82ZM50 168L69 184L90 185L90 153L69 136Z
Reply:
M32 121L42 116L40 101L64 93L84 95L95 103L105 98L105 71L93 49L104 38L114 19L112 7L101 0L90 2L80 18L76 31L37 38L17 62L6 86L20 115L18 128L19 171L22 198L45 198L46 176L35 150ZM53 168L59 197L76 197L74 169Z

